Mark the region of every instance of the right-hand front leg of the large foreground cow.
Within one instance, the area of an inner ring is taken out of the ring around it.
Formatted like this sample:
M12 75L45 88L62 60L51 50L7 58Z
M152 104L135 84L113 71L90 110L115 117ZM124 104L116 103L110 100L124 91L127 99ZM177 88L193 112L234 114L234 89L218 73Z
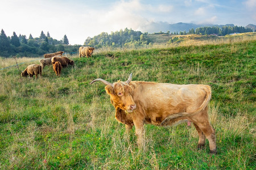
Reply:
M137 144L139 148L145 148L145 134L143 121L133 120L135 126L135 135L137 135Z

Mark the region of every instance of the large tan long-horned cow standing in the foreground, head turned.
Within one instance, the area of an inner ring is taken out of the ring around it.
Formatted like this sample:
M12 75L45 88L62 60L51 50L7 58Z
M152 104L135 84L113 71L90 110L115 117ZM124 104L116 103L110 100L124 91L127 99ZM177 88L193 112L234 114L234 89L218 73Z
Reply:
M197 147L204 147L206 137L210 153L217 153L215 130L207 113L210 86L131 81L131 75L126 82L95 79L90 84L100 81L106 85L106 93L115 107L115 118L125 124L126 131L135 126L139 147L144 145L144 123L172 126L191 121L199 134Z

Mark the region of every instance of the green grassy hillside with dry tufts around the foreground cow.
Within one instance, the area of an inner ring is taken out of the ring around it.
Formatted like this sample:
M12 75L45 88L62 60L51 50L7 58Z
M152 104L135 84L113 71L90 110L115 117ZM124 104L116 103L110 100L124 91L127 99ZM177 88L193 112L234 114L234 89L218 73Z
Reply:
M37 80L20 78L16 67L0 70L0 169L255 169L255 56L256 41L244 41L71 56L75 66L60 78L52 66ZM0 68L11 62L1 58ZM218 154L209 154L208 141L197 150L197 132L186 124L144 125L146 151L139 151L134 128L125 135L115 120L104 84L89 84L130 73L133 80L210 85Z

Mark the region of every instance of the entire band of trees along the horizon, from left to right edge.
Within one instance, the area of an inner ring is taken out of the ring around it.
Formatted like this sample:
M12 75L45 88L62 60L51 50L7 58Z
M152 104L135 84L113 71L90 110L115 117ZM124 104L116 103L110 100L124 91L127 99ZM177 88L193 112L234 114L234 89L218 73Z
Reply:
M141 31L134 31L133 29L125 28L124 30L106 33L102 32L100 35L94 37L88 37L84 45L93 46L96 49L102 47L112 47L112 48L139 48L142 46L147 46L156 43L156 39L150 38L150 36L164 34L167 36L172 35L216 35L225 36L232 33L244 33L253 32L251 28L238 27L238 26L224 26L220 27L200 27L191 28L189 32L180 31L166 33L160 31L158 33L142 33ZM169 41L171 42L171 41ZM17 36L13 32L13 36L7 37L5 32L1 31L0 34L0 56L2 57L12 57L12 56L26 56L26 57L38 57L45 53L53 53L56 51L64 51L66 53L77 53L79 46L81 45L69 45L68 38L64 35L63 40L53 39L49 32L47 35L41 32L40 37L33 38L32 35L27 37L24 35Z

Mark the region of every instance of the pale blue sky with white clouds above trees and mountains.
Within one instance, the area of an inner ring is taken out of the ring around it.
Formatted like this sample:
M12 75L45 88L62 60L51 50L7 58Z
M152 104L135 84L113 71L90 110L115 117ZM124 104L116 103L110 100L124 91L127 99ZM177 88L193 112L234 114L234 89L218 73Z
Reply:
M152 23L256 25L255 9L256 0L0 0L0 29L83 45L101 32L147 32Z

